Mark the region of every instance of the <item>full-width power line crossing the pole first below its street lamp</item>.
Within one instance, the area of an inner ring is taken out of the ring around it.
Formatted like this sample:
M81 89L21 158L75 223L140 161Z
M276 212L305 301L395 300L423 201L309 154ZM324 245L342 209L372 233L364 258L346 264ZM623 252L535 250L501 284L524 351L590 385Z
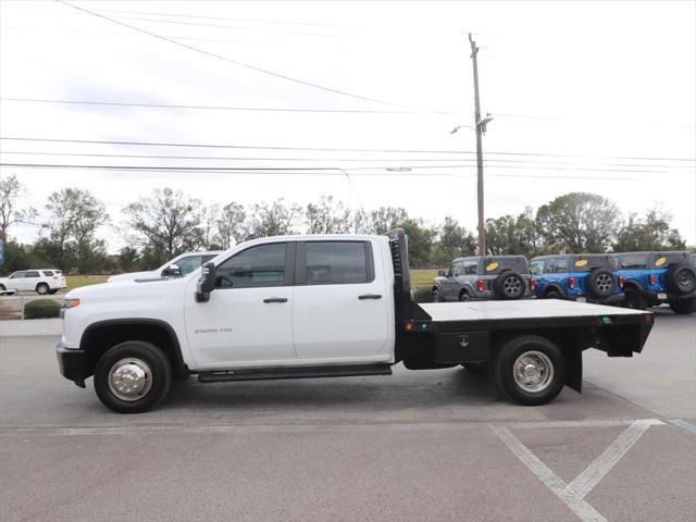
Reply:
M468 150L418 150L418 149L362 149L362 148L337 148L337 147L281 147L281 146L252 146L252 145L209 145L209 144L172 144L172 142L153 142L153 141L117 141L117 140L97 140L97 139L67 139L67 138L34 138L34 137L16 137L0 136L0 139L12 141L42 141L42 142L67 142L67 144L97 144L97 145L128 145L138 147L191 147L191 148L213 148L213 149L250 149L250 150L312 150L325 152L389 152L389 153L423 153L423 154L473 154ZM647 158L647 157L629 157L629 156L581 156L581 154L551 154L536 152L502 152L486 151L486 154L493 156L522 156L538 158L579 158L579 159L597 159L597 160L638 160L638 161L689 161L696 162L694 158Z

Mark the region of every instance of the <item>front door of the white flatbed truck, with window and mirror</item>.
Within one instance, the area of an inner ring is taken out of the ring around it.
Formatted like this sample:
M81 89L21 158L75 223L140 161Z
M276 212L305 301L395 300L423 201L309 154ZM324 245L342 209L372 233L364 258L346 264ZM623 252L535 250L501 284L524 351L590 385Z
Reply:
M189 286L186 334L197 364L234 368L295 361L293 263L295 243L249 247L217 265L208 302L196 302Z

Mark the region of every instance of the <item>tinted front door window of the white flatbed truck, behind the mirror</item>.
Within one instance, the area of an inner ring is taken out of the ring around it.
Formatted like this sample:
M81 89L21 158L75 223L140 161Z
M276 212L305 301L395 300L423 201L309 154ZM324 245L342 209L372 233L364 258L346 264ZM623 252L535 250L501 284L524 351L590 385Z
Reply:
M248 248L217 266L215 288L259 288L285 284L287 244Z

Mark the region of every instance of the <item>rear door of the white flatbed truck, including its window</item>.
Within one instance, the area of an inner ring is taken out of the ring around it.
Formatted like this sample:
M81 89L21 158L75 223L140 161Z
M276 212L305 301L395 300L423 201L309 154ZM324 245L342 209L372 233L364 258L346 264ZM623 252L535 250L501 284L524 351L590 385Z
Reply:
M388 360L389 299L370 240L298 243L293 335L298 359Z

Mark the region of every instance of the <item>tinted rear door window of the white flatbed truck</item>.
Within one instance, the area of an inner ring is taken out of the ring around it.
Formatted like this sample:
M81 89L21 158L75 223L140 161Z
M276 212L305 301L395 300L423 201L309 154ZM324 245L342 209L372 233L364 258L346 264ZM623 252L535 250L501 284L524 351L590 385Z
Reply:
M368 241L307 241L303 275L307 285L370 283L374 279L371 246Z

